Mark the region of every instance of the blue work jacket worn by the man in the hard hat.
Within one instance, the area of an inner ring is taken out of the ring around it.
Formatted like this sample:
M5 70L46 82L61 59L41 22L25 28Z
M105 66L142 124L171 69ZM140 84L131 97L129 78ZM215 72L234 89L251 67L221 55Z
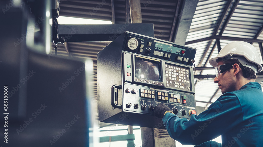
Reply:
M209 108L190 120L172 113L163 117L171 138L186 145L263 146L263 92L257 82L221 95ZM222 144L210 141L222 135Z

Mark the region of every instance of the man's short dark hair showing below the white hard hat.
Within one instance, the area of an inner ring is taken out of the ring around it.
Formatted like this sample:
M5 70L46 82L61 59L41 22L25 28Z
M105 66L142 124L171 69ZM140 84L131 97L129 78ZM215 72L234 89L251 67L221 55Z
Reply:
M218 61L220 60L222 59L221 58L218 59ZM242 69L242 76L246 78L247 80L257 78L256 73L251 68L241 65L241 63L237 59L228 59L228 60L222 60L222 61L224 62L224 64L229 64L229 63L238 64L240 68ZM228 71L230 71L230 69L228 69Z

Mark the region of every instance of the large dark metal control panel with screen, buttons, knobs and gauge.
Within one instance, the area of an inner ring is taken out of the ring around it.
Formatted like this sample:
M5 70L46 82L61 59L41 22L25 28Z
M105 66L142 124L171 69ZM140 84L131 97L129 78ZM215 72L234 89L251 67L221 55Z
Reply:
M155 107L196 114L193 63L196 49L126 31L98 53L101 122L164 129ZM156 127L158 126L158 127Z

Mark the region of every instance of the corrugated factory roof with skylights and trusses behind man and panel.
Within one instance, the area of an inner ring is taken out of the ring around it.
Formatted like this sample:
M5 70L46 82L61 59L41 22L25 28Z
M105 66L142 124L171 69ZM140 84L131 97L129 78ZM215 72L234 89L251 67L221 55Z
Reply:
M59 16L130 23L126 1L60 0ZM194 71L197 106L208 108L221 95L218 85L213 82L215 73L208 60L227 43L249 42L263 56L263 0L141 0L141 16L142 23L154 24L155 38L197 49ZM65 42L57 45L58 55L93 60L94 99L97 99L97 53L109 43ZM54 44L52 48L54 54ZM263 86L261 74L257 81Z

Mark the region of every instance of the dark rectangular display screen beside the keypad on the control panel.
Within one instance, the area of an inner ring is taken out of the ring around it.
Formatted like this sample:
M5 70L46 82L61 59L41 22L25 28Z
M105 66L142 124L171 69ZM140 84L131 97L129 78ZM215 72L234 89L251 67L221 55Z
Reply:
M161 62L135 57L135 77L162 82Z

